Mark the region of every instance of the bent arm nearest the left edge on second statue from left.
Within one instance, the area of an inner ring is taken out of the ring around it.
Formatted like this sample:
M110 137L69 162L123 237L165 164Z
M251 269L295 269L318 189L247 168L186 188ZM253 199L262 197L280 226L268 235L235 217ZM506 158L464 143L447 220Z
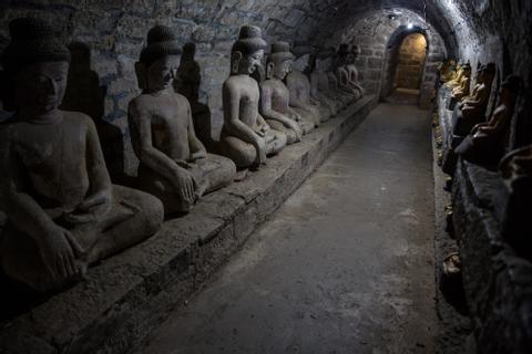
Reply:
M139 105L134 103L130 105L133 147L142 164L172 181L182 168L172 158L153 147L152 124L149 116L150 113Z

